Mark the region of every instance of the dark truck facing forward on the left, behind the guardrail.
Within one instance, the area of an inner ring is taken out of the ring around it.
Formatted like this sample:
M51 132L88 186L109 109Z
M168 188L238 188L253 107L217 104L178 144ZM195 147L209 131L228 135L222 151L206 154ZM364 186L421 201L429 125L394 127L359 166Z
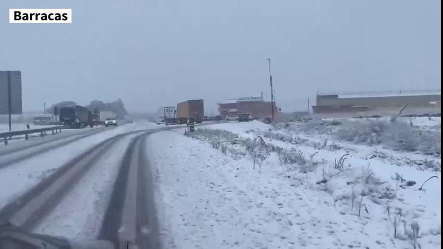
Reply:
M83 106L63 106L59 110L59 121L70 128L84 128L90 125L88 108Z

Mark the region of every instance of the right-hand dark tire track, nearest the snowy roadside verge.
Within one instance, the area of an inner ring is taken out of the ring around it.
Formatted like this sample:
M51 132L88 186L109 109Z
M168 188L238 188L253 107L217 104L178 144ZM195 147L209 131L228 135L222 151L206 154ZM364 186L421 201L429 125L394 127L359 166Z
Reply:
M129 144L98 239L112 241L116 247L160 248L154 191L146 160L147 132Z

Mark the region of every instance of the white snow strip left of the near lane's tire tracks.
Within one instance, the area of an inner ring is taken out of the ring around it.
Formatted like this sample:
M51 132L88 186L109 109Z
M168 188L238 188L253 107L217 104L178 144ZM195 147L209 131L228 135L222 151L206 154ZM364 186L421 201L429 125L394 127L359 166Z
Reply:
M0 169L0 208L36 186L62 165L88 151L100 142L118 134L143 129L156 129L154 123L140 122L110 128L98 134L70 142ZM57 136L57 135L54 135ZM20 143L26 143L22 141Z

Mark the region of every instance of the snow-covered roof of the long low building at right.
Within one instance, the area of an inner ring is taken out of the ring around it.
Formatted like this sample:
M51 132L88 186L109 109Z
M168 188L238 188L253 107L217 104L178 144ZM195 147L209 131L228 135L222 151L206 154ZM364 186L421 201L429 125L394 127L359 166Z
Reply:
M419 91L385 91L385 92L360 92L360 93L335 93L318 94L318 96L336 95L339 99L345 98L375 98L375 97L397 97L397 96L423 96L441 95L441 90L419 90Z

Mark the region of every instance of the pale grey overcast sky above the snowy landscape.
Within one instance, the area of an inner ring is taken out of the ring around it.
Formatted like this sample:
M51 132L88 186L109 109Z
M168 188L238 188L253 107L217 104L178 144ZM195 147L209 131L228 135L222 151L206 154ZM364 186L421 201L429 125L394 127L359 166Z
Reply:
M69 8L72 24L9 24L9 8ZM21 70L24 111L121 98L128 111L316 91L440 89L439 0L1 0L0 70Z

